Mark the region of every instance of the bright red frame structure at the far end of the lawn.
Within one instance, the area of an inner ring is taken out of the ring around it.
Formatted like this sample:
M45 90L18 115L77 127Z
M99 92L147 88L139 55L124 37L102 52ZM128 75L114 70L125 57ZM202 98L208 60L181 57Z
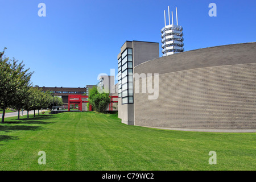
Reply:
M109 110L113 110L113 103L118 101L113 101L113 98L118 98L118 96L109 96L111 98L109 103ZM87 98L87 99L86 99ZM68 111L71 109L71 105L73 105L74 109L82 111L82 103L88 103L88 96L82 95L69 95L68 96ZM89 105L89 111L92 111L92 105Z

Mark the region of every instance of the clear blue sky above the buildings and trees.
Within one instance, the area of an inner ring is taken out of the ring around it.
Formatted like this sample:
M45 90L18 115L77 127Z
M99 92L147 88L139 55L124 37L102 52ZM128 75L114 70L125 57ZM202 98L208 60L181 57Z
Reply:
M208 15L212 2L216 17ZM39 3L46 17L38 16ZM117 74L126 40L158 42L161 51L168 6L178 9L185 51L256 41L255 0L0 0L0 51L7 47L8 57L23 60L34 85L96 84L100 73Z

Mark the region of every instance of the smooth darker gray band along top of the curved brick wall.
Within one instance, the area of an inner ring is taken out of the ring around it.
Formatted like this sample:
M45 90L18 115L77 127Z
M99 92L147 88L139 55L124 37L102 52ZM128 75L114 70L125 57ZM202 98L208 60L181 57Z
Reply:
M255 52L256 43L196 49L146 61L134 66L134 72L163 74L194 68L255 63Z

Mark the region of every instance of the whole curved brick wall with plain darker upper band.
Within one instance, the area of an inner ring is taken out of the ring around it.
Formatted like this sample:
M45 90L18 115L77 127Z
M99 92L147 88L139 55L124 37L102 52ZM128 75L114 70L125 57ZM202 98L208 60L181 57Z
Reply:
M158 99L134 94L135 125L256 131L256 43L161 57L138 65L134 73L159 73Z

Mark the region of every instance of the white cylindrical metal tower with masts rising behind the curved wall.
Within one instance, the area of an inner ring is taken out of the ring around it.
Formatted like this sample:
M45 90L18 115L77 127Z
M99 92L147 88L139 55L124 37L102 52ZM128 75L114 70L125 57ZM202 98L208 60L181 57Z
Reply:
M162 53L163 56L173 55L184 51L183 44L183 28L178 25L177 7L176 7L176 23L174 25L174 13L172 12L172 24L170 22L170 7L168 6L169 24L166 25L166 10L164 10L164 27L162 33Z

